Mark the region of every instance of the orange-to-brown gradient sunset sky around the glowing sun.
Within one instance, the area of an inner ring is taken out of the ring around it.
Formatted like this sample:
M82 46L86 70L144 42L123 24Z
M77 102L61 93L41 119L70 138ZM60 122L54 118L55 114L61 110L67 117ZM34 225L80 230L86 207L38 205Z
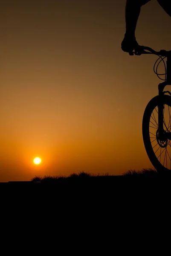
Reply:
M152 167L142 116L161 80L157 56L122 52L125 3L1 3L0 181ZM142 7L136 39L171 49L171 18L157 1Z

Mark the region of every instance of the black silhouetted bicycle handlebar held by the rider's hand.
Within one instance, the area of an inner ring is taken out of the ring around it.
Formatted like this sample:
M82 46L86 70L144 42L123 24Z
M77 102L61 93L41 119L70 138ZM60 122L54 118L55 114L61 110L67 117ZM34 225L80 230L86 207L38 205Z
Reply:
M148 52L146 52L147 50ZM159 52L155 51L154 49L147 47L147 46L139 46L139 49L137 51L133 52L135 55L141 55L141 54L155 54L155 55L160 55L162 57L167 57L168 55L171 56L171 51L166 51L166 50L160 50Z

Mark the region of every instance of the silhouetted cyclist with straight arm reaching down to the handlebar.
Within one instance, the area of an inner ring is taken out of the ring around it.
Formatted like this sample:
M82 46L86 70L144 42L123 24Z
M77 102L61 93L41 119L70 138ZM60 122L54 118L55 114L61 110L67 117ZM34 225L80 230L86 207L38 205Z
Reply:
M133 55L133 50L138 52L139 44L135 38L136 23L139 17L141 6L151 0L127 0L125 8L126 32L121 48L124 52L129 52ZM171 0L157 0L160 6L171 17Z

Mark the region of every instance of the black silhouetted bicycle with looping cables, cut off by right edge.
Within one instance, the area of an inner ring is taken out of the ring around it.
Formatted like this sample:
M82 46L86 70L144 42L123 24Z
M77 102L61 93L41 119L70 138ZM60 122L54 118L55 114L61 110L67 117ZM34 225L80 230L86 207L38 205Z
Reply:
M148 52L147 52L148 51ZM154 64L154 73L159 77L165 75L164 82L158 85L159 95L148 102L142 119L142 137L148 157L158 172L171 171L171 92L164 91L166 85L171 85L171 51L155 51L150 47L141 46L135 55L155 54L160 59ZM164 59L167 58L166 64ZM165 73L158 74L160 62L165 65ZM168 94L166 94L168 93Z

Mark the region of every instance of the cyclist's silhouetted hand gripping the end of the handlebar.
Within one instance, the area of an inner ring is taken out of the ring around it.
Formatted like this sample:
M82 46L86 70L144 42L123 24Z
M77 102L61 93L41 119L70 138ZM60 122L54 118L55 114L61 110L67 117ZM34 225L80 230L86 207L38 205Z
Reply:
M139 49L139 44L136 41L135 37L130 37L128 35L125 35L124 40L122 41L121 48L122 51L128 52L129 55L133 55L133 50L135 52Z

